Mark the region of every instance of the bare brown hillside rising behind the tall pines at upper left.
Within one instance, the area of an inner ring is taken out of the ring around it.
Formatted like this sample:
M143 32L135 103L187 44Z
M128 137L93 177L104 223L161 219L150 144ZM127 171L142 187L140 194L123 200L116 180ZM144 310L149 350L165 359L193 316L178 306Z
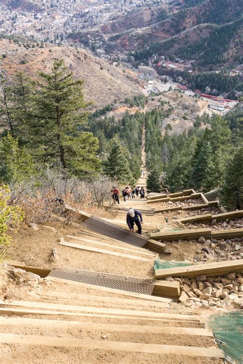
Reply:
M2 39L0 54L6 52L7 57L0 59L0 69L9 75L20 70L34 75L37 71L49 69L54 59L63 58L74 76L84 80L85 97L93 100L95 107L103 107L114 99L123 100L141 93L141 87L131 72L115 67L84 49L53 45L47 48L16 49L14 43L9 44L9 41Z

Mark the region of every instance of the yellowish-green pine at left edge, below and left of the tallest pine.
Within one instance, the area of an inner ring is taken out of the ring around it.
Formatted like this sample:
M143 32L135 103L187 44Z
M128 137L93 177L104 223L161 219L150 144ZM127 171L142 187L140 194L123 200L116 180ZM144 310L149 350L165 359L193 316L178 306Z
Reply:
M32 156L25 148L19 148L18 139L8 133L0 144L0 178L5 183L28 179L35 173Z

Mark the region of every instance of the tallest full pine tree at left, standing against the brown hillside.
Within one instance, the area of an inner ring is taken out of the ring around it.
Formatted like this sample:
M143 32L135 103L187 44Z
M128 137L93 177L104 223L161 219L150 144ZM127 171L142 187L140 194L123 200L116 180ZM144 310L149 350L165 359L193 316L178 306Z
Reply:
M83 81L74 80L64 60L35 82L33 116L28 123L33 154L43 163L60 163L70 174L90 175L99 169L98 140L79 131L87 122Z

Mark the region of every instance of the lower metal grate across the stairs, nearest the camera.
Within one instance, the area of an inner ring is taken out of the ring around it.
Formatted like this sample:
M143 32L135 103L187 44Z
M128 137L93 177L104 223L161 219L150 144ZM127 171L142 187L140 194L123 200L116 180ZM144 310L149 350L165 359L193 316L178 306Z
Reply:
M102 273L95 271L68 269L53 269L48 277L72 280L88 285L112 288L133 293L151 295L155 279L145 279L133 276L123 276L111 273Z

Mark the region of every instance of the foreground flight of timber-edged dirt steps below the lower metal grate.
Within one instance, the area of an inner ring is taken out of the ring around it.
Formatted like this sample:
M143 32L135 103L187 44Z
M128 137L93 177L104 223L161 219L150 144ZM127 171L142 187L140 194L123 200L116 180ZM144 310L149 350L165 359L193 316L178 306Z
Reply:
M198 313L46 278L39 298L0 305L4 363L222 362Z

